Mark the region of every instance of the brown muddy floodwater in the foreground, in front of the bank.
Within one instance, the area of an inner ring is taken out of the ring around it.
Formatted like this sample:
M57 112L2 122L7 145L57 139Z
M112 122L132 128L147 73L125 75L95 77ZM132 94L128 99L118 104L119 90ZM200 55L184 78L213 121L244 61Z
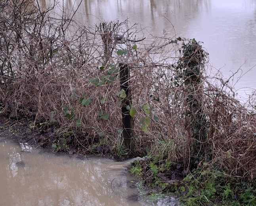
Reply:
M153 202L139 195L126 171L128 164L54 155L0 139L0 205L176 205L172 199Z

